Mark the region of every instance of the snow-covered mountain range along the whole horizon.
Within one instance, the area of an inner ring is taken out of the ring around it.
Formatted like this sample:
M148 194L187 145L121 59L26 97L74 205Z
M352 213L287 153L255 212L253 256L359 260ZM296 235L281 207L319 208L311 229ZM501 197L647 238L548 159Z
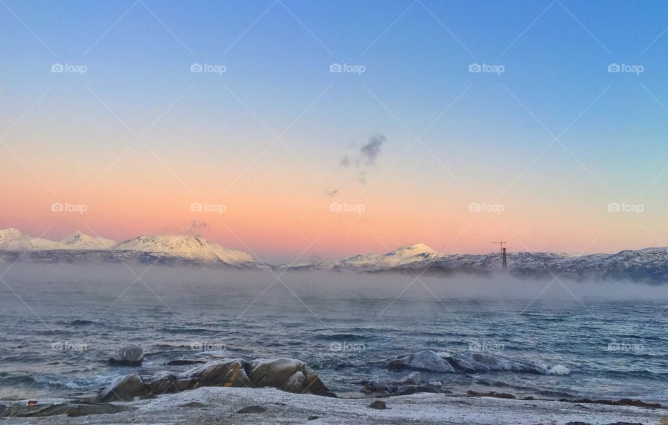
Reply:
M242 250L224 248L196 236L138 236L117 243L75 232L61 241L35 238L16 229L0 230L0 261L41 263L116 263L136 261L166 265L277 268L289 271L402 272L429 275L485 276L502 271L500 252L483 255L443 254L424 243L403 246L384 255L360 254L335 261L296 265L258 262ZM511 275L573 280L631 280L668 282L668 248L623 250L615 254L566 252L509 252Z

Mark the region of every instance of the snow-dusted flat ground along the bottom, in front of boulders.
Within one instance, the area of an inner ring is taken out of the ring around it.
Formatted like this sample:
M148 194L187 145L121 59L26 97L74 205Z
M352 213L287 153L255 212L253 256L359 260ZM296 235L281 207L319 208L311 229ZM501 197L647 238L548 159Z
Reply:
M369 408L374 399L333 399L292 394L274 389L201 387L156 399L124 403L133 412L86 417L5 419L3 423L47 422L54 424L109 423L216 423L216 424L566 424L585 422L610 424L632 422L660 424L665 409L524 401L489 397L454 397L445 394L413 394L385 398L386 410ZM238 413L260 406L266 411Z

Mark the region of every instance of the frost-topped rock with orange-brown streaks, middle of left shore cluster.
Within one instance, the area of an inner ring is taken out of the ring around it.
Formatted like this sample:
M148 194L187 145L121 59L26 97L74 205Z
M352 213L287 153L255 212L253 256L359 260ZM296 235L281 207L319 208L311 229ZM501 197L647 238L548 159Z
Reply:
M177 376L177 388L251 387L243 359L215 360L188 369ZM180 390L181 391L181 390Z

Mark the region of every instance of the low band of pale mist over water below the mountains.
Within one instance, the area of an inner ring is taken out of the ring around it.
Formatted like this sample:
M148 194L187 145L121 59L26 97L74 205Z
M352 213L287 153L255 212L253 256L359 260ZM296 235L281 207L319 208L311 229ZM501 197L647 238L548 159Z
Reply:
M345 300L347 298L389 298L390 300L452 300L491 298L498 300L539 300L541 302L587 300L668 300L668 286L634 282L575 282L564 278L519 279L498 273L487 277L468 275L412 275L411 273L355 273L350 271L237 270L193 267L149 266L148 264L69 265L16 264L3 276L20 291L23 285L53 289L97 288L138 285L165 293L170 289L214 291L229 294L244 291L257 294L271 289L271 297L308 296ZM42 286L45 285L45 286ZM0 290L7 290L0 286Z

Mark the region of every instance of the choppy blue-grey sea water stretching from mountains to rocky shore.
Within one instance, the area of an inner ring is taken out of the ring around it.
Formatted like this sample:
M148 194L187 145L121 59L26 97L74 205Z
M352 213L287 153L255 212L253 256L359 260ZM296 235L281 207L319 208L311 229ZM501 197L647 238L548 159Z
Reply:
M143 275L145 284L132 284L124 266L94 273L15 266L3 277L15 292L0 284L0 399L91 395L136 370L104 362L132 343L145 351L141 373L184 370L164 363L207 358L203 351L292 357L337 392L358 392L361 378L404 376L384 369L395 355L482 348L571 373L464 374L448 380L448 389L668 400L665 298L545 299L557 291L551 287L532 301L549 282L525 282L518 297L453 297L450 289L468 282L422 279L404 291L412 276L332 274L319 281L305 273L271 284L269 272L177 274L155 269Z

